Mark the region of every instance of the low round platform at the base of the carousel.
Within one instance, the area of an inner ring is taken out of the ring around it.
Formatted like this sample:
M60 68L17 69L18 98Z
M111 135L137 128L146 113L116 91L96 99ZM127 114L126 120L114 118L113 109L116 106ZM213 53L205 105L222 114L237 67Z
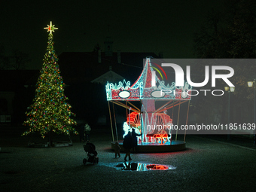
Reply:
M123 151L123 141L118 141L121 151ZM114 144L115 142L111 142L111 149L114 150ZM158 144L155 143L140 143L138 144L136 148L136 153L165 153L165 152L173 152L173 151L182 151L186 149L186 142L182 141L172 141L166 142L165 144ZM133 151L131 150L131 153Z

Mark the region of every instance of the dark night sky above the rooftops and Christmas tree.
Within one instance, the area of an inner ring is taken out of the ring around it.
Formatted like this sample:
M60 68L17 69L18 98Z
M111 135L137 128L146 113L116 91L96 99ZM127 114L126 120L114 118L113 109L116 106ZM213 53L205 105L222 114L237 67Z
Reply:
M53 25L54 48L64 51L92 51L99 44L104 51L106 36L114 51L163 51L165 58L194 58L193 37L212 8L221 0L169 1L2 1L0 44L6 54L18 49L29 53L27 69L41 69L47 48L47 30Z

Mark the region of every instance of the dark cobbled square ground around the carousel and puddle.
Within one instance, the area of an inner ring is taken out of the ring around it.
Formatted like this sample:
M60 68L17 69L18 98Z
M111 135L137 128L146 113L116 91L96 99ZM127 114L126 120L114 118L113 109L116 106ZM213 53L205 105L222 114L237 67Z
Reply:
M1 191L255 191L256 187L256 148L248 139L225 142L187 136L185 151L132 154L132 162L175 169L136 172L113 167L123 163L124 154L114 159L108 130L92 133L99 164L86 166L84 143L78 136L72 137L71 147L28 148L28 137L19 135L5 131L0 136Z

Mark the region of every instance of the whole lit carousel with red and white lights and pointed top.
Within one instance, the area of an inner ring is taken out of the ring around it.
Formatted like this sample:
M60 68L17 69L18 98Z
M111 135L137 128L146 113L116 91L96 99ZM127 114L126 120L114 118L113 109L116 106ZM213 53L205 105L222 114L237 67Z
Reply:
M154 63L154 65L157 64ZM159 65L157 67L166 75ZM132 86L130 86L130 81L119 82L119 84L106 84L113 139L111 148L114 148L115 142L119 142L121 147L123 143L122 140L118 139L114 105L126 108L127 117L126 121L123 122L123 137L132 129L135 129L136 133L142 134L137 139L137 152L170 152L181 151L186 148L186 133L183 133L184 139L182 141L177 140L178 125L172 123L172 118L167 114L167 111L178 107L177 122L179 122L181 104L188 102L186 111L188 117L191 97L187 93L189 93L192 87L187 82L184 83L183 87L176 87L174 82L171 85L165 85L164 81L160 81L157 78L154 69L157 72L159 71L156 67L152 66L151 59L147 58L145 59L142 74ZM140 102L140 108L133 104L136 101ZM162 101L164 104L156 108L156 101ZM113 103L112 110L109 102ZM115 126L115 129L113 126ZM175 136L174 139L172 139L173 136Z

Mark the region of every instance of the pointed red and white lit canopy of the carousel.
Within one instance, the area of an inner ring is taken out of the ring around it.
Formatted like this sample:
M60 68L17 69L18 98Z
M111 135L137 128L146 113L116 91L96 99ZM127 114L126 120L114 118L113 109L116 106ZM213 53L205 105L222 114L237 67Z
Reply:
M108 101L136 101L142 99L154 100L190 100L189 91L192 87L184 83L183 87L176 87L175 82L171 85L165 84L165 81L160 81L155 75L155 70L151 66L151 59L147 58L145 61L142 74L136 82L130 86L130 81L119 82L118 84L107 83L105 86ZM152 79L153 77L153 79ZM153 80L153 81L152 81Z

